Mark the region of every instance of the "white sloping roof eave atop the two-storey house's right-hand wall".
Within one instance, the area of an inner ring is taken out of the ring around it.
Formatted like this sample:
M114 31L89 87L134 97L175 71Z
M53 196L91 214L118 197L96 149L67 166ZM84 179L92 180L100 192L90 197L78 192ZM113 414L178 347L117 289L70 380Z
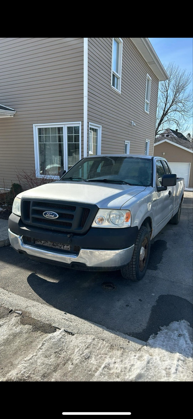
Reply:
M151 67L159 81L168 80L168 74L165 71L160 59L157 57L148 38L131 38L137 49L142 54L147 64Z

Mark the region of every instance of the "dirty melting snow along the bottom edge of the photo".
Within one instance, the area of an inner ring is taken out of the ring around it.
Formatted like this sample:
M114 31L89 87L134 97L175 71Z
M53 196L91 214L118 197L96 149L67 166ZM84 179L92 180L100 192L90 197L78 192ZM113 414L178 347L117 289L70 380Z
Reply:
M7 331L0 338L0 348L10 347L10 341L12 346L11 354L5 351L6 368L0 381L193 380L192 329L185 320L160 328L157 336L150 336L146 345L124 338L122 344L117 345L116 337L113 344L93 335L72 336L63 329L36 334L30 326L21 326L19 318L17 322L14 337L8 318L0 322ZM31 336L34 343L30 343L30 347L26 342L30 342ZM3 360L1 363L3 365Z

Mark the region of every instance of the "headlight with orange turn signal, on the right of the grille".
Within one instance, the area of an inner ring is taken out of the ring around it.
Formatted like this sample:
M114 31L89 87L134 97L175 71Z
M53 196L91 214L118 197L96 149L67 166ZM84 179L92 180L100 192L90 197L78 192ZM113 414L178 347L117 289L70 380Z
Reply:
M124 228L131 226L131 212L128 209L99 209L92 227Z

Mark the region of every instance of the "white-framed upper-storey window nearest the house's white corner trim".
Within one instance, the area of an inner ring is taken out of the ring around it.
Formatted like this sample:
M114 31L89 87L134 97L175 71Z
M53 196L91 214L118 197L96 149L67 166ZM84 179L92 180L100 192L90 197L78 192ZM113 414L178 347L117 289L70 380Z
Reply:
M122 44L121 38L113 38L111 87L119 93L121 93Z

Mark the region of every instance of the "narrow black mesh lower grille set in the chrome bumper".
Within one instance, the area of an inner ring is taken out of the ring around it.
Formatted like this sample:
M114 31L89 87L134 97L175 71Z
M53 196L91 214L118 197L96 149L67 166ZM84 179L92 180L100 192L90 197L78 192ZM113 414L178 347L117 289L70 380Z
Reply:
M23 243L34 247L49 247L55 250L71 253L79 253L81 249L80 246L71 246L70 244L57 243L50 240L40 240L38 238L31 238L26 236L23 236Z

